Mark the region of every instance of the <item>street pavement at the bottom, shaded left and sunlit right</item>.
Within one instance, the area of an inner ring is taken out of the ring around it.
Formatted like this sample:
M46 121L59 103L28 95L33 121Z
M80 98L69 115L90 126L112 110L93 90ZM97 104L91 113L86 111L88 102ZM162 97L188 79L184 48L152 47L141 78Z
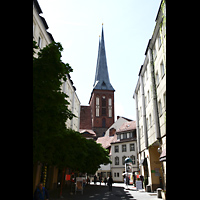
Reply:
M133 186L128 186L124 183L114 183L112 191L108 191L108 186L105 184L86 185L83 194L77 192L76 194L70 194L70 191L63 189L62 198L59 197L60 189L49 191L49 200L162 200L157 198L157 193L145 192L143 190L136 190Z

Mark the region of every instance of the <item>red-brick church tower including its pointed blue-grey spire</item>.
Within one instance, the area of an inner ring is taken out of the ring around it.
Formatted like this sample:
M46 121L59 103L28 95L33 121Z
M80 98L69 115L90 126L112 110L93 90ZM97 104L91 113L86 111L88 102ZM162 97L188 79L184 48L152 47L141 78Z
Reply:
M108 74L102 26L95 80L89 101L92 112L92 129L97 134L97 137L102 137L105 131L114 123L114 92L115 90L110 83Z

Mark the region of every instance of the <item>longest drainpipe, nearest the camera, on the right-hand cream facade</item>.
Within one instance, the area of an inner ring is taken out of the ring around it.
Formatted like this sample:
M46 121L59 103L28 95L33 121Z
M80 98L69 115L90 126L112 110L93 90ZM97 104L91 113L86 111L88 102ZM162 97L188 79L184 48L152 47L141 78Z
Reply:
M158 103L157 103L157 92L156 92L156 81L155 81L155 72L154 72L154 61L153 61L153 53L152 49L149 48L148 51L149 59L150 59L150 71L151 71L151 82L152 82L152 100L153 100L153 115L155 122L155 132L156 139L161 140L160 136L160 123L158 116Z

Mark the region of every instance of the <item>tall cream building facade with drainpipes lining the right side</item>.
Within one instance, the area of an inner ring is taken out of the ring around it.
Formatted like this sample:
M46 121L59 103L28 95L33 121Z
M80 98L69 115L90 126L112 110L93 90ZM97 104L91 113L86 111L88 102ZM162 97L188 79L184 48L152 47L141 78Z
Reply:
M140 172L151 190L166 185L166 7L161 1L133 98Z

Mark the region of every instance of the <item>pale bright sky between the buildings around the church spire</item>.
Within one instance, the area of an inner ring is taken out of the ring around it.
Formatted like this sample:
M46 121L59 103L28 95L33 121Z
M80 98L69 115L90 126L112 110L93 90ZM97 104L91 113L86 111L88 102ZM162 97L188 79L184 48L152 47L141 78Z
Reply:
M64 48L62 61L81 105L89 105L98 55L104 41L109 78L115 89L115 120L136 120L133 94L161 0L38 0L48 32Z

